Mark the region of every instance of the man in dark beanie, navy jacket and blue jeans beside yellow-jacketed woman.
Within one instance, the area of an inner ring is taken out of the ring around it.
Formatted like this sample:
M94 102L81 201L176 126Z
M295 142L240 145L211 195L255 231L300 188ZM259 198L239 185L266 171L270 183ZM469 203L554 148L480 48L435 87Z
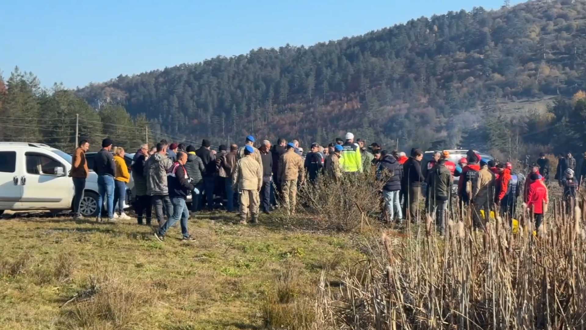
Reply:
M105 138L102 140L102 150L94 157L94 172L98 174L98 215L96 221L102 221L102 206L106 199L108 210L108 221L114 221L114 176L116 175L116 165L112 149L112 140Z

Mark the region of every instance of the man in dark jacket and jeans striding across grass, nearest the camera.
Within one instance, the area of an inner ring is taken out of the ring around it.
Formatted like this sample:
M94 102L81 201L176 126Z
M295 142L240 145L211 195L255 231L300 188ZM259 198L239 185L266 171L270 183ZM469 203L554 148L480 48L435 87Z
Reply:
M169 220L155 232L155 237L159 241L165 240L165 233L169 228L173 227L177 221L181 220L181 233L183 234L182 241L193 242L193 238L188 231L187 224L189 220L189 210L185 200L195 187L189 181L189 176L185 170L185 163L187 163L187 154L183 151L177 153L177 161L173 164L171 172L168 174L169 183L169 197L173 204L173 215Z

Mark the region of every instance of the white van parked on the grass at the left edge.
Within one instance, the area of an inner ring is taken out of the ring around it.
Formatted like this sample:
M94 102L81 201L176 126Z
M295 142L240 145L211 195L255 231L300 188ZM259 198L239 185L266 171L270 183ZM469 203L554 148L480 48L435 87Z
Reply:
M5 210L71 210L73 180L67 176L71 156L46 144L0 142L0 214ZM125 205L131 192L126 191ZM97 215L98 176L93 171L86 180L81 214Z

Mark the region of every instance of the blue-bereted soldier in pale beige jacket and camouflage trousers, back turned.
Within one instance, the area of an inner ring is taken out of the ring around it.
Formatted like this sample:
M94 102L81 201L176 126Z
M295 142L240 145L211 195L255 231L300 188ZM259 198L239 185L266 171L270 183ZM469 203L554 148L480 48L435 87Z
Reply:
M244 157L236 162L232 177L234 190L240 193L240 223L246 224L250 207L251 223L258 221L258 193L263 185L263 169L252 156L252 146L244 147Z

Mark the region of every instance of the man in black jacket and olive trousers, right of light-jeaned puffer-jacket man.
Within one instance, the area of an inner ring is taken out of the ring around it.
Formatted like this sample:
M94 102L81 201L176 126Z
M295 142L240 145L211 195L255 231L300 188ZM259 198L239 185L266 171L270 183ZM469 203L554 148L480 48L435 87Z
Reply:
M423 159L423 151L420 149L411 150L411 157L403 164L403 187L407 191L408 217L411 221L417 218L417 210L419 206L419 198L421 195L421 183L425 181L423 173L421 173L421 160Z

